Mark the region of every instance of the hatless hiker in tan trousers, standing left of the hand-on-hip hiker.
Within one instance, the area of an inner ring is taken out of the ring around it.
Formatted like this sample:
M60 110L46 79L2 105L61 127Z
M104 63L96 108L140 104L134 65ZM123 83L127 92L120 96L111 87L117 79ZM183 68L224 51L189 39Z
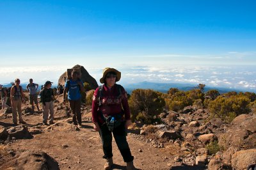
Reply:
M24 93L22 87L20 86L20 79L15 79L15 85L11 88L11 103L12 103L12 120L14 125L17 124L17 112L19 116L19 123L25 124L26 122L22 120L21 116L21 104L24 102Z

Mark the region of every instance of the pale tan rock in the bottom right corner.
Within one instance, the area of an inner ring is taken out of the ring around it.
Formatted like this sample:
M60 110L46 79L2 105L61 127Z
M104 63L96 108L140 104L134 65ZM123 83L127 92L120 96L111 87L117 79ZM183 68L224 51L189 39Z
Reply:
M232 155L234 169L246 169L250 164L256 164L256 149L241 150Z

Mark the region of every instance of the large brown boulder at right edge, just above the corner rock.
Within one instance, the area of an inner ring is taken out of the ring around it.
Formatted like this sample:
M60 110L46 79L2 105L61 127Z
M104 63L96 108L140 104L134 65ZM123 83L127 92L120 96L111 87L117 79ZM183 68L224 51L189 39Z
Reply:
M225 148L250 149L256 147L256 114L246 116L241 114L232 121L232 126L219 138L219 144Z

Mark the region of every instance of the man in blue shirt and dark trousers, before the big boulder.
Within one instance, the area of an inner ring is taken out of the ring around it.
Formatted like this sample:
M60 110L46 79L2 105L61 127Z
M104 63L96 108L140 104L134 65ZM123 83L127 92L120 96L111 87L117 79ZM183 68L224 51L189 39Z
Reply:
M63 104L66 104L66 93L68 92L68 101L73 114L73 123L81 127L81 92L84 91L83 82L78 78L79 73L73 71L71 73L71 79L65 83L63 92Z

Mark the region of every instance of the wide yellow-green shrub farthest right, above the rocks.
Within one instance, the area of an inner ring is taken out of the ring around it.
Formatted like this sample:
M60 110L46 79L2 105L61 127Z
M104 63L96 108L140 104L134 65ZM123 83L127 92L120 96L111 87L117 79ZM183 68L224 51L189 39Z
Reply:
M245 96L217 97L209 103L209 111L212 117L230 122L239 114L248 114L251 111L250 100Z

